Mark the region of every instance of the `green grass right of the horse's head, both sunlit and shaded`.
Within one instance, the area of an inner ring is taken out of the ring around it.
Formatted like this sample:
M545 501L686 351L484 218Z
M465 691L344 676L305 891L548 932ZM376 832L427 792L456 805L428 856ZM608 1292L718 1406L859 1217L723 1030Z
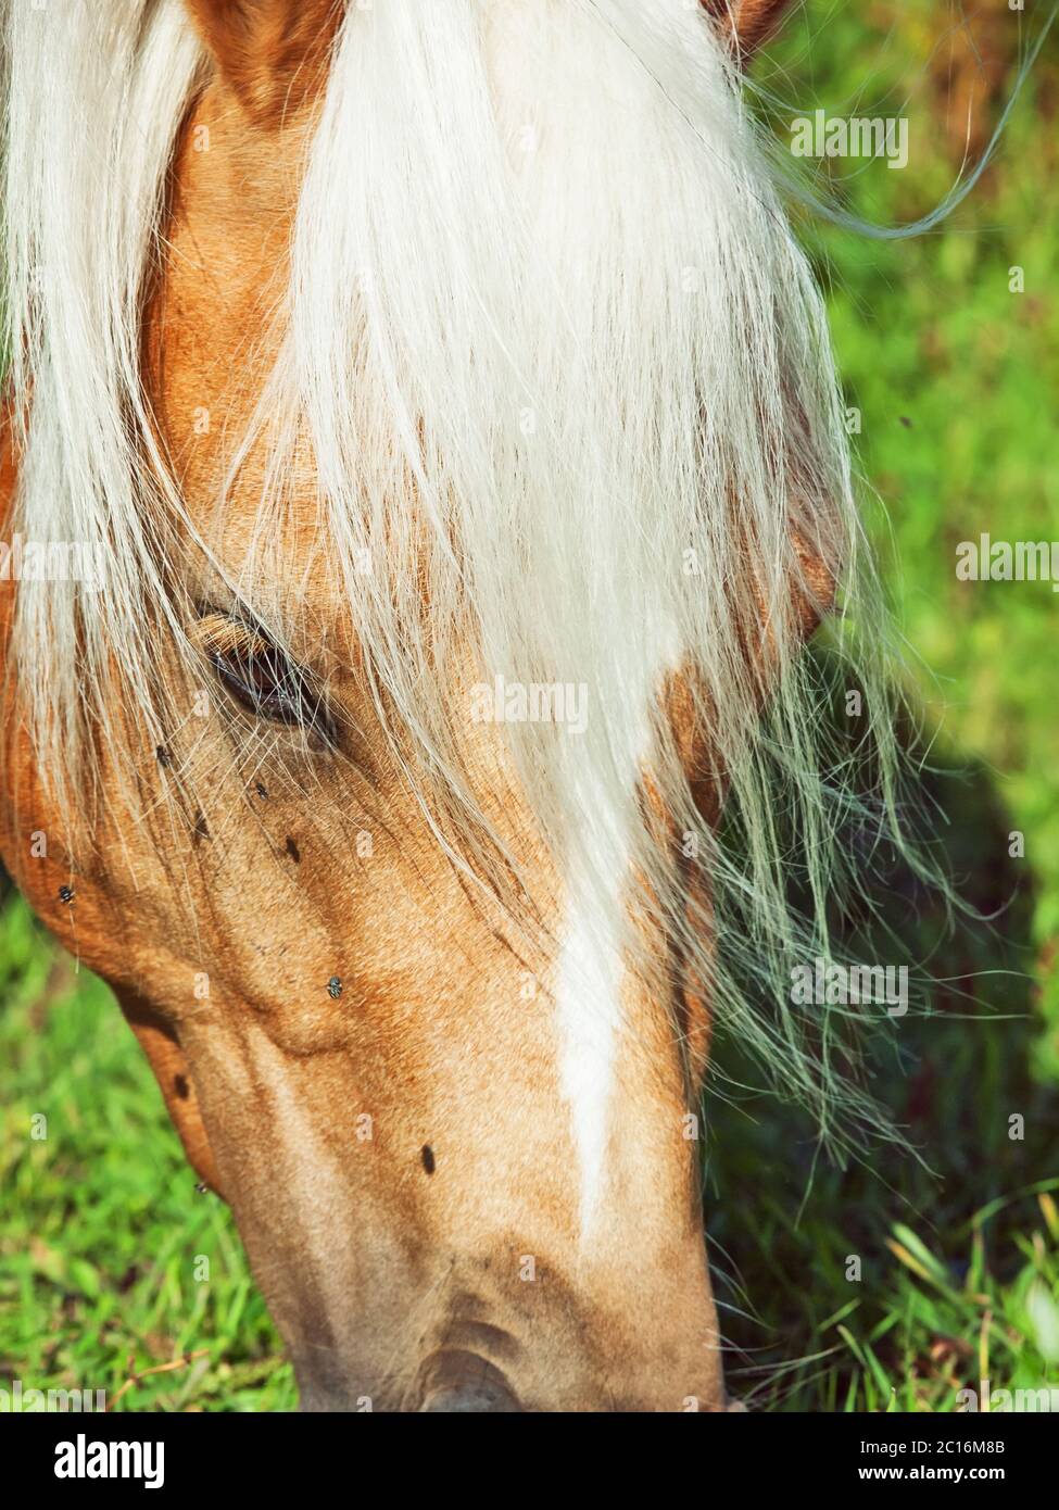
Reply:
M758 68L798 113L906 109L906 171L834 165L846 208L876 223L928 213L959 166L943 128L944 50L941 79L923 68L940 9L879 0L872 29L860 8L810 3ZM1033 9L1039 24L1045 8ZM1012 27L994 8L977 38L1008 62L990 121L1017 71ZM1056 56L1053 39L994 166L940 231L879 243L802 223L863 417L858 455L879 500L869 518L911 699L943 772L937 837L996 921L949 936L937 900L896 877L887 921L935 985L925 1015L899 1025L897 1057L881 1049L870 1069L929 1169L879 1149L867 1167L834 1170L775 1104L715 1108L709 1229L728 1373L763 1409L940 1412L982 1377L1059 1385L1059 599L1048 584L955 577L956 542L982 532L1059 539L1059 234L1041 201L1059 159ZM780 139L793 113L767 112ZM1012 266L1023 294L1009 291ZM1009 856L1012 830L1024 859Z

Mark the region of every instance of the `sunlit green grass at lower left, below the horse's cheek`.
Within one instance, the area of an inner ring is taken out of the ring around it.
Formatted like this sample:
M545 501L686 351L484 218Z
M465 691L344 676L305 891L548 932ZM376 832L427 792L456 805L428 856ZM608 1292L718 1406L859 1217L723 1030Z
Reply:
M196 1191L107 988L74 975L21 901L0 917L0 1388L113 1400L189 1359L115 1409L293 1409L228 1208Z

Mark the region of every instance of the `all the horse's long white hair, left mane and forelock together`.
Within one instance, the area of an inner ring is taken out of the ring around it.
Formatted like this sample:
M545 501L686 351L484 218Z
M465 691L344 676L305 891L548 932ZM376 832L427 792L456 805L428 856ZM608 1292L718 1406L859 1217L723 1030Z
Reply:
M57 764L77 750L79 717L113 728L115 660L140 719L165 726L140 619L147 609L180 643L154 524L181 503L151 451L139 311L202 54L177 0L124 0L106 18L80 0L41 12L6 0L3 14L11 349L17 399L32 397L20 519L38 538L106 539L113 559L106 607L20 602L17 655L48 666L30 716ZM467 687L438 675L449 652L455 666L470 633L483 680L583 684L577 738L553 723L503 729L529 808L577 877L579 929L592 897L600 948L633 950L650 914L776 1084L822 1116L835 1090L870 1119L826 1057L813 1063L773 989L799 926L766 766L805 835L807 957L826 953L828 840L849 800L814 752L792 610L810 596L799 541L846 571L858 554L840 397L820 297L701 11L350 6L308 154L289 334L263 391L261 414L279 403L290 418L290 445L272 459L260 562L295 486L292 436L307 435L329 562L438 838L459 852L462 834L470 856L485 827ZM237 586L283 639L275 583L243 563ZM748 654L761 615L776 658L764 752ZM701 837L722 926L725 897L739 918L721 963L638 790L650 767L677 843L701 830L659 716L678 669L693 672L743 835L737 859ZM885 737L878 705L872 716ZM567 951L567 966L579 953L598 974L598 948ZM773 1016L751 1006L769 994Z

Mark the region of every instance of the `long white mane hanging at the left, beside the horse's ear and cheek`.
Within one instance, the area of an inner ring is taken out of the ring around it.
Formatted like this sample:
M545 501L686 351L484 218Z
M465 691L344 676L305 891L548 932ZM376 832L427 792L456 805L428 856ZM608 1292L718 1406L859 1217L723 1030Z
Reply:
M42 769L69 799L88 728L113 731L113 705L86 719L110 657L130 707L148 710L145 607L177 628L151 538L172 489L140 391L139 310L202 54L178 5L5 0L3 62L8 350L17 433L27 427L15 516L91 542L107 566L95 604L18 596L14 648L35 667L23 695Z

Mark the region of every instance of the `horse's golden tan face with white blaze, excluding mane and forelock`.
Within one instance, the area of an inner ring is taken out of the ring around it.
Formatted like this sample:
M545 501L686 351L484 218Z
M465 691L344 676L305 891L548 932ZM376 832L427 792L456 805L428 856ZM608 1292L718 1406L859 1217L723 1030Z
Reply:
M515 904L452 852L409 778L428 764L429 740L384 732L391 689L372 675L379 645L369 654L361 643L357 580L331 569L319 436L296 451L269 544L272 596L261 587L272 426L254 424L283 355L276 316L292 284L307 143L344 8L187 9L211 65L177 140L140 355L157 453L186 507L163 577L199 669L189 672L196 663L160 634L160 676L183 689L169 704L183 717L145 732L131 711L119 723L124 746L113 731L95 740L83 797L94 841L73 855L54 841L45 859L29 858L27 835L57 835L63 823L9 714L5 858L63 942L115 985L192 1164L236 1213L305 1407L724 1409L693 1117L709 1019L687 980L674 989L672 941L633 900L636 850L583 791L576 853L597 856L625 898L639 942L630 969L624 924L601 921L592 888L557 864L541 830L547 805L526 793L532 770L515 775L505 725L468 717L447 760L496 853L515 858ZM715 18L718 35L734 20L749 47L780 6L712 9L730 12ZM373 24L350 8L354 23ZM511 91L517 124L520 80L494 86L497 109ZM406 284L434 251L406 246ZM438 245L441 254L455 255ZM453 349L465 293L452 288ZM322 387L331 381L323 368ZM465 418L446 414L446 396L428 400L441 412L435 438L446 424L458 435ZM384 433L366 429L364 450L384 445ZM403 498L409 538L432 528L428 450L425 439L423 476L408 479ZM12 453L8 491L14 467ZM366 488L364 506L373 501ZM387 518L399 532L399 515ZM544 550L529 528L512 553ZM425 622L437 595L425 574ZM582 607L557 602L556 613ZM601 643L628 630L609 624ZM470 640L434 649L423 651L425 676L453 699L476 684ZM677 669L654 666L659 689ZM672 737L690 763L686 680L671 690ZM403 692L414 710L414 690ZM628 757L628 811L648 812L657 832L672 820L642 753ZM125 757L139 806L119 770ZM190 809L177 791L195 793Z

